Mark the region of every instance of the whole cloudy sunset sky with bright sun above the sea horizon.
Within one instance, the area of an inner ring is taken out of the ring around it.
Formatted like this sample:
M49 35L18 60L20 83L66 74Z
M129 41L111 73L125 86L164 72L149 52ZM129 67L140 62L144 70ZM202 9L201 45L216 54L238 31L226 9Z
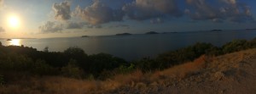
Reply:
M256 28L255 0L0 0L0 38Z

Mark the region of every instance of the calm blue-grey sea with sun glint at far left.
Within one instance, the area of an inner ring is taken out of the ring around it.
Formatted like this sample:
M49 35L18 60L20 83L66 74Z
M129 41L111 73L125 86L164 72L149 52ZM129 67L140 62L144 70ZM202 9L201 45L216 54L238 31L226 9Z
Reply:
M251 40L256 37L256 30L201 31L157 35L132 36L90 36L48 39L13 39L0 41L5 46L24 45L43 51L49 47L51 52L63 52L68 47L80 47L87 54L110 53L119 58L133 60L143 57L154 57L157 54L187 47L195 42L210 42L222 46L235 39Z

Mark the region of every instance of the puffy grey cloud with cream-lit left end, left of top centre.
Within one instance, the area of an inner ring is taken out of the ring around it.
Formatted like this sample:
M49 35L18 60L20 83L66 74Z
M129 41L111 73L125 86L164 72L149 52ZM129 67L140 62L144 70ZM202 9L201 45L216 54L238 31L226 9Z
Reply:
M90 23L90 25L100 25L111 21L122 21L124 16L121 9L110 8L100 0L94 1L92 5L84 9L78 6L73 14L84 19Z

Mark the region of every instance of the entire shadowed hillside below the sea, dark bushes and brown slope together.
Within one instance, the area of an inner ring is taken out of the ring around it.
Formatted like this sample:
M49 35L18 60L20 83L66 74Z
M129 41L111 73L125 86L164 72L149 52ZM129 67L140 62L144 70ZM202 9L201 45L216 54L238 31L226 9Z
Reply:
M196 43L131 62L78 47L56 53L0 46L0 93L254 93L255 41Z

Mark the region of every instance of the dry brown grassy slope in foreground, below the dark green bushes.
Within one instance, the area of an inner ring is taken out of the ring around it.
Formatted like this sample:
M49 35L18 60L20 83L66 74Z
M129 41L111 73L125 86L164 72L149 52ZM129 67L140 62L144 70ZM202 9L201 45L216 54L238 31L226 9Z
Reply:
M256 93L256 49L196 59L171 69L143 74L137 70L112 79L77 80L59 76L13 75L0 93Z

